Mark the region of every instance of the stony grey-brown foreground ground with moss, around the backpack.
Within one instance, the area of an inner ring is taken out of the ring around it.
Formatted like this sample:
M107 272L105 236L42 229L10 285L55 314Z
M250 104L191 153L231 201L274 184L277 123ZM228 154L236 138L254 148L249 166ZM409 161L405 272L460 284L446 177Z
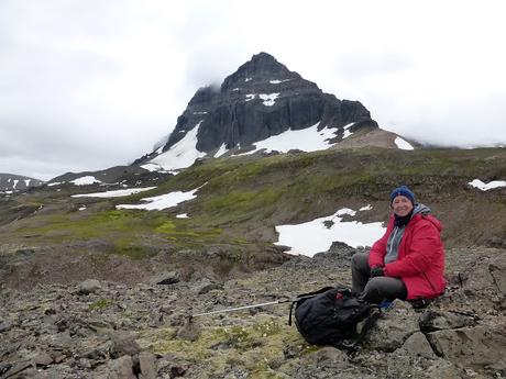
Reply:
M359 350L310 346L288 305L213 315L349 285L351 255L219 281L161 271L136 285L94 279L0 290L0 378L504 378L506 250L447 252L448 291L425 309L396 301ZM161 267L162 269L162 267Z

